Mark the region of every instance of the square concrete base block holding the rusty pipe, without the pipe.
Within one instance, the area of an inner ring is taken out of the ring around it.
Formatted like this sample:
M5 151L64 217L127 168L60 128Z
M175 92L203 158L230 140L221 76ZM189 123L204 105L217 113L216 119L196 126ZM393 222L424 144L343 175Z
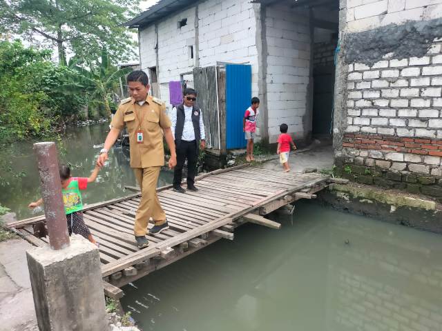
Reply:
M62 250L27 253L40 331L107 331L99 250L79 235Z

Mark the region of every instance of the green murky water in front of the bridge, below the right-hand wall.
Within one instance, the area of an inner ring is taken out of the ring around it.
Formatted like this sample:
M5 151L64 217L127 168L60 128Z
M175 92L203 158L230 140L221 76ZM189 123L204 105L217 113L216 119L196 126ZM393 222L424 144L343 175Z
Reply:
M311 202L281 221L127 285L124 308L144 330L442 330L440 235Z

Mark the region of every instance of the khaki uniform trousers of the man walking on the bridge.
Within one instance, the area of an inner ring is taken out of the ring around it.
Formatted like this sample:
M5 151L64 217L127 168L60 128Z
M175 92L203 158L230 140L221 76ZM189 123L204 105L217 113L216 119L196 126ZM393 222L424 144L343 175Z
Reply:
M160 170L161 167L133 168L142 192L140 205L138 205L135 216L135 224L133 225L135 236L148 234L147 224L151 217L155 225L162 225L166 222L166 214L157 197Z

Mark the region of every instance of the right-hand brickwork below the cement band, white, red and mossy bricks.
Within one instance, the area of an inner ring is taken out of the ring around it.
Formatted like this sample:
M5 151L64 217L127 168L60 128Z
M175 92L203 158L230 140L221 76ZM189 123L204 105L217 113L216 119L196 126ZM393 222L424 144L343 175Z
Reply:
M349 177L442 197L441 64L438 42L423 57L349 65L343 137Z

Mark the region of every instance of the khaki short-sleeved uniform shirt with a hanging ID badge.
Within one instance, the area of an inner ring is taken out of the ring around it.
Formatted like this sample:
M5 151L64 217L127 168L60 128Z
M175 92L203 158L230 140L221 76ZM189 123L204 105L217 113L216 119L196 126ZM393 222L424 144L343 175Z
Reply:
M131 146L131 168L164 165L162 129L170 128L171 120L166 114L166 105L161 100L148 95L143 106L132 98L122 100L111 126L119 130L127 127ZM140 130L140 126L144 139L142 143L137 143L137 131Z

